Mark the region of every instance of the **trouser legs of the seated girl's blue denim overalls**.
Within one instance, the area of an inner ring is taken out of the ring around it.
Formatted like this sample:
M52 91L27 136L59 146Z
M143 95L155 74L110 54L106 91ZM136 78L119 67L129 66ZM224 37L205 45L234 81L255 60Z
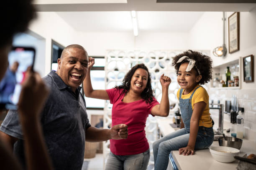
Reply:
M195 150L206 149L212 145L214 133L212 128L200 126L198 129ZM166 170L169 163L169 154L172 150L179 150L187 146L189 132L179 129L153 143L155 170Z

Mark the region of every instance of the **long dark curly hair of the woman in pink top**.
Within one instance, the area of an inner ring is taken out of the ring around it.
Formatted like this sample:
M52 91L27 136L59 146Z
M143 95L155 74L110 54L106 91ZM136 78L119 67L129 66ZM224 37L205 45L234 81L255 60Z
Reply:
M122 93L125 93L125 95L129 92L131 87L131 78L133 77L134 72L138 69L142 68L148 72L148 68L144 64L137 64L131 68L130 71L128 71L123 79L122 85L115 86L117 89L123 89ZM153 101L153 90L151 87L151 77L150 73L148 72L148 82L146 85L146 88L141 93L141 97L143 100L146 101L146 103L151 103Z

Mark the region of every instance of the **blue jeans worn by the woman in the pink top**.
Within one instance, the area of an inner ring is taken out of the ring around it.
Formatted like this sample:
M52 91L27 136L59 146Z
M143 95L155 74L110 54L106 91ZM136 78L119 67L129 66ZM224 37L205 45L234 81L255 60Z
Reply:
M109 153L105 170L146 170L148 167L150 150L136 155L115 155Z

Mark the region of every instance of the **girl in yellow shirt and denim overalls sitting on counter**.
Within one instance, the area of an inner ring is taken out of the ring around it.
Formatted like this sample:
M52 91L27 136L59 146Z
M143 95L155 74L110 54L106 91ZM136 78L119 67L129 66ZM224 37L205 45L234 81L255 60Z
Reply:
M202 84L212 78L212 60L200 52L188 50L174 57L177 92L182 115L181 129L156 140L153 144L155 170L166 170L172 150L193 155L195 149L208 148L214 138L209 112L209 96Z

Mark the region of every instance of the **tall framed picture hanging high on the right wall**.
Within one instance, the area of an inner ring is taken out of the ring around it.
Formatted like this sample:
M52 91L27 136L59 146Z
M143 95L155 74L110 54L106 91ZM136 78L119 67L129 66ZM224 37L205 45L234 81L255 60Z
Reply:
M240 13L235 12L228 17L228 52L239 50L240 44Z

